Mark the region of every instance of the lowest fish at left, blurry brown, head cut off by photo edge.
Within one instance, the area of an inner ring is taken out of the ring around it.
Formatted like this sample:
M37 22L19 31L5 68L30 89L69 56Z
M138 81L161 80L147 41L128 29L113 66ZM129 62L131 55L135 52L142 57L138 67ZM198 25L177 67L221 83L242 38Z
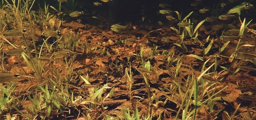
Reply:
M0 73L0 83L14 81L15 78L19 77L21 77L21 75L17 73Z

